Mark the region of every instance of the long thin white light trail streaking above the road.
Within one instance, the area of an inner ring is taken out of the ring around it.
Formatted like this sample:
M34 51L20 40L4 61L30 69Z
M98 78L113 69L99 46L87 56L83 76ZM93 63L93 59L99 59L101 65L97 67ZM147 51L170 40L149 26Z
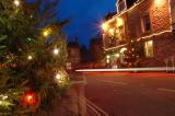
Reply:
M155 67L155 68L127 68L127 69L79 69L77 72L128 72L128 71L175 71L173 67Z

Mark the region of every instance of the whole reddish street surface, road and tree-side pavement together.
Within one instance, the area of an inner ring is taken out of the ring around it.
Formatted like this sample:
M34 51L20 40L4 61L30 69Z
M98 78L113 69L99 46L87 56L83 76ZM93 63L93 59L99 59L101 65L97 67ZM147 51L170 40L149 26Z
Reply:
M175 116L175 74L78 72L72 85L40 116Z

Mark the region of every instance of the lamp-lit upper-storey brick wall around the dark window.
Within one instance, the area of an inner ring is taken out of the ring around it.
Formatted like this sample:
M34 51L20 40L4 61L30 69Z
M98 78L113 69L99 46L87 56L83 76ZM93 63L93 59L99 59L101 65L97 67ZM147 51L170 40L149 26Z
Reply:
M160 0L162 1L160 4L155 1L158 0L145 0L121 15L125 21L126 36L128 39L171 30L168 0ZM151 31L143 33L142 18L145 14L150 15Z

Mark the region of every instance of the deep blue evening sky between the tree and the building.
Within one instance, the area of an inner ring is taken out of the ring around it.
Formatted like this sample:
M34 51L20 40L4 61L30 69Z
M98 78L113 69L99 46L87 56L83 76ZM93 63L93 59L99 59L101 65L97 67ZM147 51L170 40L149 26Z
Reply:
M92 37L101 31L100 25L108 12L115 12L116 0L61 0L59 18L70 18L70 24L65 28L69 40L79 36L81 45L89 46Z

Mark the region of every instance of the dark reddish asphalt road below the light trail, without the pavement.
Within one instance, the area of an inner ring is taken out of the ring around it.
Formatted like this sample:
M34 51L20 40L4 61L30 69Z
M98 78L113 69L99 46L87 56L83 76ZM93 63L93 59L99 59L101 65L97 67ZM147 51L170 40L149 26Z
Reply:
M109 116L175 116L175 77L85 73L85 96Z

